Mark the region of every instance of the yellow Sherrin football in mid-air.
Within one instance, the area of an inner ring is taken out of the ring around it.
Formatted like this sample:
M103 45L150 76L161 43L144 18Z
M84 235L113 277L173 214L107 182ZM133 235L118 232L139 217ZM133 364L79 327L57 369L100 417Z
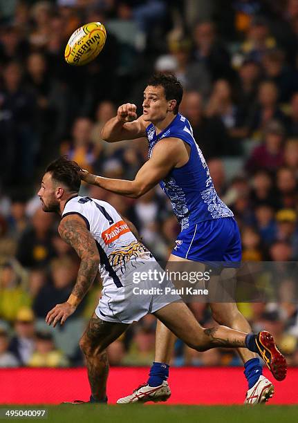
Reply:
M100 54L106 42L106 28L100 22L86 23L68 39L64 57L68 64L82 66Z

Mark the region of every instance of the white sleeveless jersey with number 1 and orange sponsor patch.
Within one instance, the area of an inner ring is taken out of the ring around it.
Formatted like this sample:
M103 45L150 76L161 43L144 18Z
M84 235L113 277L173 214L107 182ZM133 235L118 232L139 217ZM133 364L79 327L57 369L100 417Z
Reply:
M104 288L121 288L132 283L125 278L134 264L154 260L152 254L138 243L120 214L106 201L76 196L66 202L62 218L78 214L86 222L100 253L100 276Z

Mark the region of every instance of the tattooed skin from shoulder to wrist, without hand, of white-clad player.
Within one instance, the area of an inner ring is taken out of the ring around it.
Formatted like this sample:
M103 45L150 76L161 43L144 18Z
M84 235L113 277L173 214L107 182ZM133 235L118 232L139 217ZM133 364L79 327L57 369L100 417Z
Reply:
M98 272L99 256L95 240L89 230L84 227L84 223L80 223L76 218L62 219L59 234L75 249L81 259L72 294L83 299Z

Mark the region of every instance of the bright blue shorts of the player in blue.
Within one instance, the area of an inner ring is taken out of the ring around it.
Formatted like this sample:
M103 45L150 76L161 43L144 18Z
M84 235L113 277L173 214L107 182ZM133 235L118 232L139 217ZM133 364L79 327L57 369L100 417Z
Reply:
M241 236L236 220L232 217L205 220L183 229L171 254L192 261L221 262L221 265L227 262L231 267L238 267Z

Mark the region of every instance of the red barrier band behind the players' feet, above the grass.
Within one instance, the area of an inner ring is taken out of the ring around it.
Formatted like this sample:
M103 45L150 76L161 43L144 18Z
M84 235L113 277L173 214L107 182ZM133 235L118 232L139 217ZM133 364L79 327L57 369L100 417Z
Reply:
M149 368L112 367L108 380L109 403L147 380ZM270 377L265 369L264 375ZM272 379L272 377L270 377ZM166 404L242 404L246 391L243 368L171 368L172 395ZM283 382L274 383L270 404L298 404L298 368L288 369ZM0 404L59 404L89 400L85 368L0 369Z

